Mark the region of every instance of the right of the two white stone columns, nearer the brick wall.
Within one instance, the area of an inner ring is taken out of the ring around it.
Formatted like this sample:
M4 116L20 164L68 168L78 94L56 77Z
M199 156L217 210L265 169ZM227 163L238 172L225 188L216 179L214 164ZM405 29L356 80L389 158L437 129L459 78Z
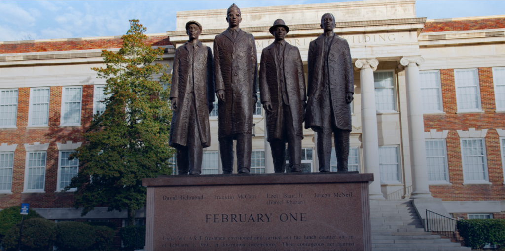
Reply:
M412 173L411 199L432 198L428 187L426 169L426 146L424 140L424 118L421 99L419 68L424 58L421 56L402 57L400 64L405 67L407 86L407 113L409 121L409 144Z

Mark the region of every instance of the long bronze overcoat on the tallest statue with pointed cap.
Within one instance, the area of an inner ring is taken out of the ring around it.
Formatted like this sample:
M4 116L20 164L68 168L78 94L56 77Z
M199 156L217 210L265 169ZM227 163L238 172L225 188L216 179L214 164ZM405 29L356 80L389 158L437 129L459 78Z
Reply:
M228 29L214 39L216 92L225 91L218 102L218 137L251 134L256 107L258 56L254 36L240 30L235 39Z

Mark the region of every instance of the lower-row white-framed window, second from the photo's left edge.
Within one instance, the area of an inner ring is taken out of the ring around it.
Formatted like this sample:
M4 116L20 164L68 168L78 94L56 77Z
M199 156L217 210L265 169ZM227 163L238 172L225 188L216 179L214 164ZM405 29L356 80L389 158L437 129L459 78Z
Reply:
M46 152L26 153L25 192L44 192Z

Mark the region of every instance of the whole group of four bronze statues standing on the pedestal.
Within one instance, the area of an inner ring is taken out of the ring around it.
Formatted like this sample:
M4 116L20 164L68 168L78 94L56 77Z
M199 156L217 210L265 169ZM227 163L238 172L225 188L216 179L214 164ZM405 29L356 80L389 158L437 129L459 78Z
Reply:
M249 173L252 123L256 110L258 58L254 36L240 29L240 9L227 12L228 29L214 39L214 54L198 36L202 26L186 24L189 40L177 47L170 90L173 110L170 146L177 149L178 174L200 174L203 148L210 146L209 113L218 98L218 138L223 173L233 172L233 140L237 141L237 172ZM259 88L266 111L266 137L276 173L285 172L286 147L291 172L301 172L301 140L305 128L317 132L319 171L331 171L334 134L337 170L347 171L354 77L349 45L333 33L335 18L321 18L323 34L312 41L308 85L296 46L284 40L289 27L275 20L275 42L261 54Z

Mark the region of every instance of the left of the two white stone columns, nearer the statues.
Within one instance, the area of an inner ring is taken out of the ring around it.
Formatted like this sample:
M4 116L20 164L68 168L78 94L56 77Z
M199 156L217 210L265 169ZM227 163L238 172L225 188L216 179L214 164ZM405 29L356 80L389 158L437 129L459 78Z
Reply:
M370 183L371 200L384 200L380 189L379 140L375 108L374 71L378 65L379 61L375 58L360 58L355 62L356 68L360 71L364 167L365 172L374 174L374 181Z

